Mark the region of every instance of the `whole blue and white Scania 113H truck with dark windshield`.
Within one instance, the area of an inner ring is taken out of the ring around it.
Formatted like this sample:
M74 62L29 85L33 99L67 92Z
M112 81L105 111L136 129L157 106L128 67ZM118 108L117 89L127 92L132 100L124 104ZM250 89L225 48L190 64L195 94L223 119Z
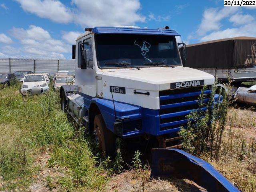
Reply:
M62 110L88 125L104 154L115 137L157 137L168 147L198 108L204 84L210 94L214 76L182 67L180 39L169 27L94 27L76 40L76 82L61 87Z

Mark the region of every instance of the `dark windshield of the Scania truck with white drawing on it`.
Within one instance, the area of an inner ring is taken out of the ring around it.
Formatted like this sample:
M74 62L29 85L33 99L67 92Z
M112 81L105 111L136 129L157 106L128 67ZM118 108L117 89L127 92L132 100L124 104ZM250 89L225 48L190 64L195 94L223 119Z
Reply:
M176 39L169 35L98 34L96 52L100 68L181 65Z

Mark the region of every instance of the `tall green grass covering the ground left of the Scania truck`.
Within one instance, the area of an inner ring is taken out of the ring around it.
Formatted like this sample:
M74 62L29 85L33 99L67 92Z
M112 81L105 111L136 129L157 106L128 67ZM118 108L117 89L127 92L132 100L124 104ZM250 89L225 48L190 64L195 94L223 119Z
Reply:
M58 93L22 97L20 86L14 83L0 90L0 190L27 190L38 171L37 151L45 148L52 151L50 166L65 167L64 176L54 182L66 190L100 190L105 171L86 139L77 139L76 127L60 110Z

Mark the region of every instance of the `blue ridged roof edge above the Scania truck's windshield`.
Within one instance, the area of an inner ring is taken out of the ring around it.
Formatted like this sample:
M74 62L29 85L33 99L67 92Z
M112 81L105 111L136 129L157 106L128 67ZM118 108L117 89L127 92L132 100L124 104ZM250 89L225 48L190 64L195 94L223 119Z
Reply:
M77 39L88 35L89 31L82 33ZM141 35L176 35L181 36L174 29L145 29L138 27L94 27L92 33L96 34L141 34Z

